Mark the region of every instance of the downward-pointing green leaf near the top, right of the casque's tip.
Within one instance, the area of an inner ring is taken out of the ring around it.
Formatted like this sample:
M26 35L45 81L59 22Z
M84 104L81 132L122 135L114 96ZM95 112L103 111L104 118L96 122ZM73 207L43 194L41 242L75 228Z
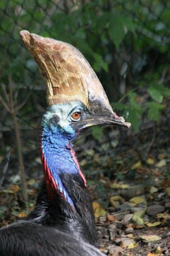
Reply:
M122 22L121 15L114 15L109 20L109 37L115 44L116 49L118 49L119 45L121 44L124 38L124 24Z

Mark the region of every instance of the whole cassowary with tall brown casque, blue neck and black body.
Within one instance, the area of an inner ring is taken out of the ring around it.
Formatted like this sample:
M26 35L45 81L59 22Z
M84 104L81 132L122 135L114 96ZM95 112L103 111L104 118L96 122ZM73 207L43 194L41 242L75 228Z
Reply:
M40 154L44 182L27 218L0 230L0 256L102 255L92 200L72 142L86 127L130 127L109 105L84 56L70 44L20 32L45 80L49 107L43 115Z

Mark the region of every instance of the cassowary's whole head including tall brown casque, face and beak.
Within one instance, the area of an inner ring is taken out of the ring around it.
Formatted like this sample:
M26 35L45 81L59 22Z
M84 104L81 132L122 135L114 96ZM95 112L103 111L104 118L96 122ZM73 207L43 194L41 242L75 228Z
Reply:
M75 138L92 125L130 123L112 111L106 93L81 52L70 44L20 32L46 83L47 108L41 126Z

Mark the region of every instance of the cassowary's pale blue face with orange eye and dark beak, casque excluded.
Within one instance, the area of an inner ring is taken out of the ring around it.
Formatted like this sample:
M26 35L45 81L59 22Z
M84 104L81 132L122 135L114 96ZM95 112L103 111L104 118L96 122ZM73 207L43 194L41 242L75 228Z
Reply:
M72 101L48 107L41 122L41 126L48 126L53 133L63 134L70 140L82 129L99 124L124 125L124 119L112 116L109 111L92 113L82 102Z

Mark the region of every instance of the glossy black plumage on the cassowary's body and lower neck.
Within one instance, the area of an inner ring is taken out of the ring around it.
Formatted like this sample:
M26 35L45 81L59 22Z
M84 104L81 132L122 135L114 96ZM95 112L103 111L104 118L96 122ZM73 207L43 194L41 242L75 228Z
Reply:
M95 218L81 177L62 174L61 178L75 208L57 192L53 200L49 198L43 182L28 217L0 229L0 256L103 255L94 247Z

